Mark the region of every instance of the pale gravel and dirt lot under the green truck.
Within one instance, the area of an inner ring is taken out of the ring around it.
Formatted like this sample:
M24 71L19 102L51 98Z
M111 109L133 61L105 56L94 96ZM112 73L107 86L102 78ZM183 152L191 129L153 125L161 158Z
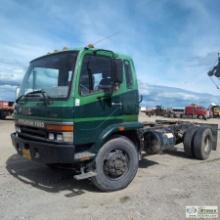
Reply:
M148 156L128 188L101 193L88 180L75 181L71 171L52 171L18 156L9 136L13 129L12 120L0 121L2 220L179 220L185 219L186 205L220 208L220 146L207 161L186 158L182 146L177 152Z

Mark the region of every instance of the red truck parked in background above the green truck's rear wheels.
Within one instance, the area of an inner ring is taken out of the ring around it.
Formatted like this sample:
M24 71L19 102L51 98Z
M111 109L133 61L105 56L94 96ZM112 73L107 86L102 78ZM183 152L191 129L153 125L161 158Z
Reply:
M185 107L185 115L193 118L207 119L210 117L210 112L202 106L192 104Z

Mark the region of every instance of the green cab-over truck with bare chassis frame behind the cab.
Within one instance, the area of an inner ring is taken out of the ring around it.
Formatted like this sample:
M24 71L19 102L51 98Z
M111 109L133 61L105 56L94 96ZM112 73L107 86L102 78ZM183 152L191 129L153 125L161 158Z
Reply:
M85 47L34 59L15 106L17 152L49 167L74 168L101 191L125 188L144 154L183 143L205 160L217 147L217 125L138 121L139 93L129 56Z

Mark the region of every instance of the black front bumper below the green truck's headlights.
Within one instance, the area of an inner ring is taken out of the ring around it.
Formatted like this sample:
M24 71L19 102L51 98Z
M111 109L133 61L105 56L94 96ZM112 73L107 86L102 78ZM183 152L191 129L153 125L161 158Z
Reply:
M28 151L28 159L45 164L74 163L74 145L26 140L18 137L16 133L11 134L11 139L20 155L24 156L24 150Z

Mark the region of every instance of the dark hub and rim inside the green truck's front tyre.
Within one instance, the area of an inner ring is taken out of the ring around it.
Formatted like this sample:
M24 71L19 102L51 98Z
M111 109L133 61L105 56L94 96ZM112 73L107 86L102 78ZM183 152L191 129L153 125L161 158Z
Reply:
M126 175L129 169L128 154L121 150L113 150L108 153L103 163L104 174L109 179L119 179Z

